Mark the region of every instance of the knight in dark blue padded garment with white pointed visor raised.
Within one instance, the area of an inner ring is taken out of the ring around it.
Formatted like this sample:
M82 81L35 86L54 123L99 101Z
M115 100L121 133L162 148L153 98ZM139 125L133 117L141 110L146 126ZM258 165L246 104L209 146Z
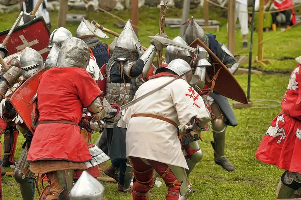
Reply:
M97 32L95 32L95 34L97 34ZM94 33L88 29L84 21L81 21L76 30L76 37L83 40L88 45L89 50L96 58L97 65L99 67L102 67L104 64L108 63L110 56L109 46L97 38L103 38L103 35L94 35Z

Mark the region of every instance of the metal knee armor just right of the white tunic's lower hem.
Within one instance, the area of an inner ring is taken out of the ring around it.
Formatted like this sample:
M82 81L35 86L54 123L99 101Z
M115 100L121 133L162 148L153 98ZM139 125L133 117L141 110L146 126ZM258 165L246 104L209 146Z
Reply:
M186 152L186 162L188 165L189 170L186 169L186 174L187 176L189 176L189 174L191 173L191 171L193 170L193 168L196 166L196 164L198 162L201 162L202 158L203 158L203 152L200 149L200 145L198 140L197 141L193 141L191 143L188 144L189 145L189 150L185 149Z

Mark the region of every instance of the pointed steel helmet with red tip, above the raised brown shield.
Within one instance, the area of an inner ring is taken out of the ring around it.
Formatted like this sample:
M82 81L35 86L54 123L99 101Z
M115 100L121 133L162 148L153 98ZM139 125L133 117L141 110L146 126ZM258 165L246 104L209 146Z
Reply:
M191 16L191 21L184 34L184 40L187 44L190 44L197 38L199 38L207 47L209 46L209 39L205 35L204 30L194 21L193 16Z

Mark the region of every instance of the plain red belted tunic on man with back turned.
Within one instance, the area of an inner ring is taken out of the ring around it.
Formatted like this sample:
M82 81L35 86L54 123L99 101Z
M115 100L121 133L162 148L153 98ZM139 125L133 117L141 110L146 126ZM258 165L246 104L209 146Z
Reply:
M83 108L102 94L91 75L81 68L51 68L39 80L39 121L62 120L79 123ZM27 160L91 160L87 144L76 125L39 124Z

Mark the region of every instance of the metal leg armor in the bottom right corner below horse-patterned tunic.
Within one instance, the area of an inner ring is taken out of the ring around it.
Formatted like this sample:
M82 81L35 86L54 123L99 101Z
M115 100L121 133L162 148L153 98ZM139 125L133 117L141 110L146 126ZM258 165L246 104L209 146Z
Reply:
M293 198L296 190L301 188L301 174L285 171L277 187L276 199Z

